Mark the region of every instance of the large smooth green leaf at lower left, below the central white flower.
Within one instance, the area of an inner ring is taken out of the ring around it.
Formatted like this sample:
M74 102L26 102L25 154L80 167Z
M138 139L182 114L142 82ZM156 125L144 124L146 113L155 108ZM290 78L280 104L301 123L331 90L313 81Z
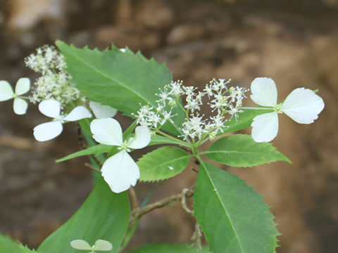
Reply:
M70 242L77 239L85 240L89 245L94 245L98 239L107 240L113 244L110 252L118 252L129 219L127 192L113 193L101 177L82 207L42 242L39 252L79 253L70 247Z

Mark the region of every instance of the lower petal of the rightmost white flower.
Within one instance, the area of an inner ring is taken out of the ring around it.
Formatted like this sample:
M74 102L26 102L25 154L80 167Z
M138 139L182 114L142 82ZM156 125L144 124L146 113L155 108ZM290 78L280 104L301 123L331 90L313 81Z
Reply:
M272 141L278 133L277 112L264 113L253 118L251 136L256 142Z

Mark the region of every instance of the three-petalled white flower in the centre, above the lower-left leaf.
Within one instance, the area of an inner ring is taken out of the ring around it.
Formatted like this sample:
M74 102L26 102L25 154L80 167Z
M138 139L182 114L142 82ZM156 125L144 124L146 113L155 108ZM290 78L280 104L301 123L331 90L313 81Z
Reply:
M105 145L118 146L119 153L109 157L104 162L101 171L104 180L114 193L135 186L139 179L139 167L128 154L130 148L140 149L146 147L151 140L151 133L146 126L137 126L135 136L123 142L123 133L116 119L94 119L90 124L95 141Z

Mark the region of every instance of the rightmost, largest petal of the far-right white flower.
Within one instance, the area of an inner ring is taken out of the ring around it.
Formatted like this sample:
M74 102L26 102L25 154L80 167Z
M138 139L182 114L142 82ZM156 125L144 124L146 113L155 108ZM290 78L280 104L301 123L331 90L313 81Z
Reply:
M294 89L282 104L282 111L299 124L311 124L323 108L323 99L305 88Z

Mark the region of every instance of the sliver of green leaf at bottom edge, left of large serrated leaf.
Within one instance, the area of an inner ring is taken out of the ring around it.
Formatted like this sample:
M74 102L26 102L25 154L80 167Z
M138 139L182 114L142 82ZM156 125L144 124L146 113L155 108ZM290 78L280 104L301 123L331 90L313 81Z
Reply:
M185 244L151 244L138 249L134 249L129 253L197 253L196 246ZM208 247L202 247L202 253L209 252Z

